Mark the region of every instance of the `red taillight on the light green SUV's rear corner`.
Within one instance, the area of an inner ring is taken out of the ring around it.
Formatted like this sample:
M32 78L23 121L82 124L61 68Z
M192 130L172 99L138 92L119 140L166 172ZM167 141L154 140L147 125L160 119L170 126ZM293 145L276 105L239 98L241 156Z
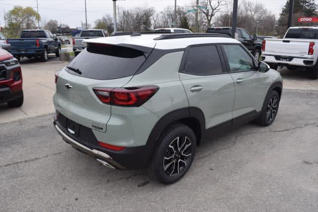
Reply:
M139 107L147 102L159 90L158 86L149 85L133 88L94 87L100 101L110 105Z

